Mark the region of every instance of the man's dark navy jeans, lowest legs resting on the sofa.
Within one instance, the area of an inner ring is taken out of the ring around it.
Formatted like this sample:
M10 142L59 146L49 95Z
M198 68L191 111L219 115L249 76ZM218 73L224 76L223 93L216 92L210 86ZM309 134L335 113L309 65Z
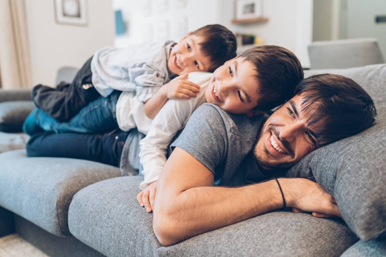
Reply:
M119 167L128 134L120 129L106 134L43 132L29 139L27 156L76 158Z

